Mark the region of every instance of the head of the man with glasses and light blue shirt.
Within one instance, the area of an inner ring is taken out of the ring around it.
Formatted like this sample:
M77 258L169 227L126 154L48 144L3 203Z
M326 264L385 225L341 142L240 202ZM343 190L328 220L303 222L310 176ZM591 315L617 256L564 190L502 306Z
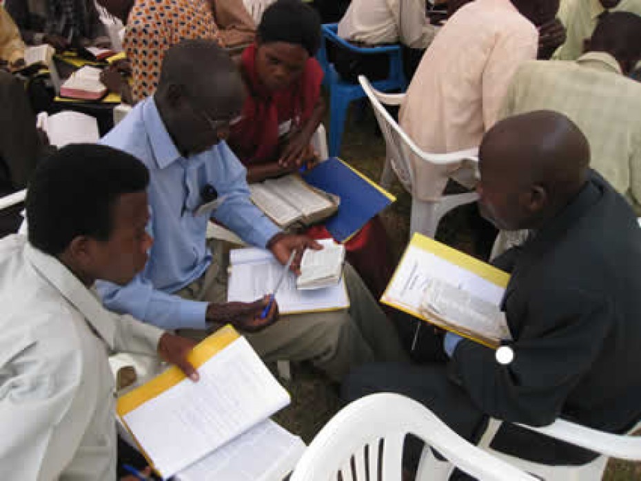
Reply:
M245 88L216 41L183 40L165 53L154 100L181 154L198 154L227 138Z

